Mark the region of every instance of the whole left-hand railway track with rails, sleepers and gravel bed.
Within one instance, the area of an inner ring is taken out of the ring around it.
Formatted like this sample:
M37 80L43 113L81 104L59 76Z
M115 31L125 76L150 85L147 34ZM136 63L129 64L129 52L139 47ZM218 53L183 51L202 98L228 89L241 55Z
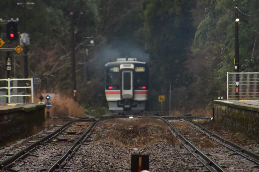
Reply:
M45 131L39 140L32 140L29 145L25 144L2 157L0 171L51 172L63 168L81 146L89 145L90 137L94 137L90 134L96 134L93 132L96 124L110 118L114 117L77 119L55 131Z

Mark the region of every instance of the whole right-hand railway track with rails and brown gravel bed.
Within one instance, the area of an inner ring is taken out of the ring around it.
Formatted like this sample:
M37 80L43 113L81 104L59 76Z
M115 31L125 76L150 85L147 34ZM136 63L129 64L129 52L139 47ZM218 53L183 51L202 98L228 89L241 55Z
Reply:
M175 129L174 135L210 171L258 171L258 154L218 136L190 119L178 119L177 122L170 120L168 123L177 126L179 131ZM183 127L183 123L191 127Z

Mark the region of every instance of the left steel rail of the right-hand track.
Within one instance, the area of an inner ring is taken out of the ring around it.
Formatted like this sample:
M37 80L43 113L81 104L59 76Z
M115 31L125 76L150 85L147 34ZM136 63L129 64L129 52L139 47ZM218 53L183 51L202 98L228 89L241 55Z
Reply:
M203 153L195 145L193 145L189 140L187 140L172 124L170 124L163 117L157 117L164 120L173 129L172 134L178 138L180 142L186 147L192 155L194 155L205 167L207 167L211 172L226 172L218 163L211 159L208 155Z

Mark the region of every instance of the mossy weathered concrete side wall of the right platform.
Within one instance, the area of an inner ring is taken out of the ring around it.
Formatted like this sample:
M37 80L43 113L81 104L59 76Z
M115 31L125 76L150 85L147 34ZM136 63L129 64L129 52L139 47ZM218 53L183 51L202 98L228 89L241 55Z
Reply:
M244 132L259 139L259 108L256 106L214 101L214 119L223 122L234 132Z

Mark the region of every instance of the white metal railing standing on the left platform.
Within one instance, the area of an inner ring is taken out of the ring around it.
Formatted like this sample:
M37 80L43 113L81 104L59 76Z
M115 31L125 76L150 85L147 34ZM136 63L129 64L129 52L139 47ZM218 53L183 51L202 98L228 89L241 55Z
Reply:
M31 81L31 86L28 87L11 87L10 81L21 81L21 80L30 80ZM0 87L0 89L8 89L8 95L0 95L0 97L8 97L8 103L11 103L11 97L14 96L28 96L31 97L32 103L34 103L34 99L33 99L33 78L28 78L28 79L0 79L0 81L7 81L8 82L8 86L7 87ZM26 94L26 95L12 95L11 94L11 89L13 88L31 88L31 94Z

